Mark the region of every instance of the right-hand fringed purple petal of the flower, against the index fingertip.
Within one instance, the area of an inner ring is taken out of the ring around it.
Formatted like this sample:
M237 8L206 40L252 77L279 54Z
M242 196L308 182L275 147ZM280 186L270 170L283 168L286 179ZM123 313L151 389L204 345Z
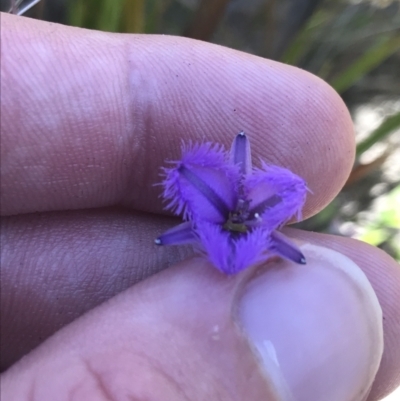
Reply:
M262 226L275 230L294 215L301 219L307 186L290 170L263 163L262 169L246 177L244 188L250 201L250 214L257 213Z

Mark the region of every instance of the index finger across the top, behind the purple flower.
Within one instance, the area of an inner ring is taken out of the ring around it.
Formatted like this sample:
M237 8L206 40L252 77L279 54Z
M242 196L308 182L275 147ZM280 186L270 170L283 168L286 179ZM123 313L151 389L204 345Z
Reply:
M226 146L306 179L304 217L342 187L349 113L294 67L178 37L116 35L2 15L2 214L123 204L161 212L159 167L181 140Z

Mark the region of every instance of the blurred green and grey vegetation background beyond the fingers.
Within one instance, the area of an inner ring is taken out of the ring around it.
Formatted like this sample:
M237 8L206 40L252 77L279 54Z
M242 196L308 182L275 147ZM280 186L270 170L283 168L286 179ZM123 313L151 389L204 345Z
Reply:
M196 38L320 76L351 111L357 160L337 198L298 226L361 239L400 261L400 0L41 0L27 15Z

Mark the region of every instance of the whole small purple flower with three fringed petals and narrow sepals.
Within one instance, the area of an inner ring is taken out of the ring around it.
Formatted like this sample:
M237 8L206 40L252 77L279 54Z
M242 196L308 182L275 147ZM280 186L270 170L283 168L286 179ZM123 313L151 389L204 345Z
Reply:
M166 208L184 223L157 245L194 244L226 274L280 255L305 264L298 247L277 231L301 217L307 186L282 167L253 168L250 142L240 132L228 153L218 144L184 146L182 160L163 168Z

